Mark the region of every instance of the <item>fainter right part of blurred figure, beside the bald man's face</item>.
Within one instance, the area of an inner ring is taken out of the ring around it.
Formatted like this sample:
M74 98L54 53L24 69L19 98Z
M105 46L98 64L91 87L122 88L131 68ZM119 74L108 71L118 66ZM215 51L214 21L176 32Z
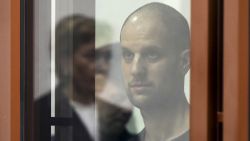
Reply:
M112 79L111 59L113 59L113 49L119 44L108 44L96 49L96 104L100 123L100 135L102 141L126 141L131 135L126 131L125 125L130 118L131 111L128 108L115 104L112 101L120 97L119 91ZM111 87L112 85L113 87Z

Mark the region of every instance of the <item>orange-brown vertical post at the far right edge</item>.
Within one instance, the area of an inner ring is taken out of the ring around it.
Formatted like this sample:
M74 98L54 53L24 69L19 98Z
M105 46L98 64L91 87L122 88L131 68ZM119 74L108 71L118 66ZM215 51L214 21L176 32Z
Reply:
M249 2L224 2L224 141L248 141Z

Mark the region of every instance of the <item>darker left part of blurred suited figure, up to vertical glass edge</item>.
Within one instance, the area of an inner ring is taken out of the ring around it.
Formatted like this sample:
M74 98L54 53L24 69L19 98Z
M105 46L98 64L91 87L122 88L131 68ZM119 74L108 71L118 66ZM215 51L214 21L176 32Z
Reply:
M53 125L55 134L52 134L52 139L56 141L92 140L97 137L94 41L95 24L92 18L73 15L57 24L55 117L50 116L52 105L49 92L35 102L36 140L50 140L50 126Z

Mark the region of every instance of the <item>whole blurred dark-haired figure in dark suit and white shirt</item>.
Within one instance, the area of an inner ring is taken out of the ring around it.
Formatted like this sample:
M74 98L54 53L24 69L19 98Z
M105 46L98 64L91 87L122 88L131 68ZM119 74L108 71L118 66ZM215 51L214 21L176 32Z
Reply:
M51 117L53 105L49 92L35 102L35 141L125 139L127 133L123 125L130 111L122 111L108 102L95 99L95 72L102 74L100 82L104 85L110 58L105 57L104 61L97 58L97 62L101 62L98 65L104 64L95 71L94 20L83 15L62 19L56 26L55 50L58 78L55 117ZM99 54L106 55L103 52ZM98 75L96 77L99 78ZM98 91L102 87L98 87ZM119 125L112 126L113 123ZM54 135L51 135L51 126L55 126Z

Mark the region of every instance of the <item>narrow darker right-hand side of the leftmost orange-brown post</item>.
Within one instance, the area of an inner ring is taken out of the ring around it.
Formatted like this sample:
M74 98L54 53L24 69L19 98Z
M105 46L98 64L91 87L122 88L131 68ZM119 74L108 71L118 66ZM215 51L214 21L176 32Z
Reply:
M11 141L20 141L20 0L11 0Z

